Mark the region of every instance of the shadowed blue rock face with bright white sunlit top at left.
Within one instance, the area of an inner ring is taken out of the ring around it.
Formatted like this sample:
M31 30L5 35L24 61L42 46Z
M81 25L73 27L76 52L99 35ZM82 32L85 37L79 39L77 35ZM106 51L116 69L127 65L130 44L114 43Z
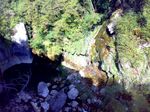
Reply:
M2 37L0 38L1 74L11 66L21 63L32 63L28 37L23 23L19 23L15 26L11 41Z

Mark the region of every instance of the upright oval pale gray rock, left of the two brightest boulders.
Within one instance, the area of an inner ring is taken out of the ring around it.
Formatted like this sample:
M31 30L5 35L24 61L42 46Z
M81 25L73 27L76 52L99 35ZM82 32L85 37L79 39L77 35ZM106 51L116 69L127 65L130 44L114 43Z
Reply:
M40 82L38 84L38 95L42 97L47 97L49 94L48 86L45 82Z

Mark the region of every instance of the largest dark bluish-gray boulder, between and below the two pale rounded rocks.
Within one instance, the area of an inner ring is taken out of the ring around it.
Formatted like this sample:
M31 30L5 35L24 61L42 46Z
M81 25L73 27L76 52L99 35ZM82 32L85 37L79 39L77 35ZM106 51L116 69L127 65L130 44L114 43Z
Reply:
M61 108L65 105L67 100L67 95L60 91L58 94L49 100L50 110L52 112L59 112Z

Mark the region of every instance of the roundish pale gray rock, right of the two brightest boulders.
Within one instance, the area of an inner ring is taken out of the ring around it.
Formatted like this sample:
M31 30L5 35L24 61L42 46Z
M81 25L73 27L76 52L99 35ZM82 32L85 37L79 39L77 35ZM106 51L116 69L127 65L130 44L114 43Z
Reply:
M76 88L72 88L68 91L67 94L69 99L74 100L79 95L79 91Z

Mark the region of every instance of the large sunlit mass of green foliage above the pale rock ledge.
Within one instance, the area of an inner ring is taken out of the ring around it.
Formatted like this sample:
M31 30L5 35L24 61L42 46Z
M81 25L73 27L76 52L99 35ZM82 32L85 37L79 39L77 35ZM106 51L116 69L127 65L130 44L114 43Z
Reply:
M11 8L15 12L11 25L18 21L29 24L31 47L46 55L62 50L81 54L86 36L99 20L90 0L17 0L11 2Z

